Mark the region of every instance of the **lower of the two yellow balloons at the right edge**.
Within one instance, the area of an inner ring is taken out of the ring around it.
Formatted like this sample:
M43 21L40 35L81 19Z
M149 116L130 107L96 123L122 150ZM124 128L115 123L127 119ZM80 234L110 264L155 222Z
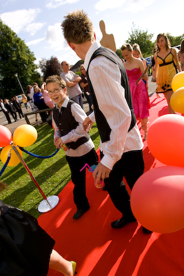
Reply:
M184 87L179 88L170 98L172 109L179 113L184 113Z

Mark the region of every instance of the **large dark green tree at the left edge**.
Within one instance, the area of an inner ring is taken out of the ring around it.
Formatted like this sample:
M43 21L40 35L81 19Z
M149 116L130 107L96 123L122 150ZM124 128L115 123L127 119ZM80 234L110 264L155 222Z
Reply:
M24 41L17 37L0 19L0 97L11 98L22 94L14 74L18 73L19 81L26 91L27 85L36 81L41 83L36 58Z

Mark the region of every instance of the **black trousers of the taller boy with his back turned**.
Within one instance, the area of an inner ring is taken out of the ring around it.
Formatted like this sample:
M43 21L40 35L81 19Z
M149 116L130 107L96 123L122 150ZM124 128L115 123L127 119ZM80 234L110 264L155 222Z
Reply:
M123 214L125 219L132 219L134 215L130 208L130 195L122 181L123 177L125 177L128 186L132 190L136 180L143 174L143 171L143 151L133 150L125 152L112 168L110 177L104 179L105 186L114 206Z

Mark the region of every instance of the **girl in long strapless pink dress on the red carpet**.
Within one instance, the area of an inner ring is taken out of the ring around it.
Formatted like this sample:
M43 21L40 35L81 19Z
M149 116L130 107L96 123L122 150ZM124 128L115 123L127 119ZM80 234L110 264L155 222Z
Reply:
M144 139L147 139L147 121L149 117L149 107L147 101L147 89L145 83L141 79L139 83L136 84L136 81L141 77L144 72L144 65L141 59L137 59L132 55L132 46L129 43L123 44L121 47L121 53L123 59L125 59L125 69L127 72L127 77L129 79L130 91L132 94L132 101L134 106L134 113L136 119L141 121L143 129L145 131ZM148 79L147 73L143 75L145 81Z

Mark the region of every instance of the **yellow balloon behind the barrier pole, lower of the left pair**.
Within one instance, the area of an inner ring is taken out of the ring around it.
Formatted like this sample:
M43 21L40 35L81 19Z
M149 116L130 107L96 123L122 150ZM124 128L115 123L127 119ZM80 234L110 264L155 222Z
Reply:
M1 161L3 162L3 164L6 164L6 160L8 159L8 153L9 153L11 148L12 148L12 146L6 146L5 148L3 148L1 150ZM19 148L17 148L17 150L19 151L19 153L22 157L22 151ZM19 163L20 163L20 159L17 156L17 153L12 149L11 150L10 161L8 162L8 166L9 167L16 166Z

